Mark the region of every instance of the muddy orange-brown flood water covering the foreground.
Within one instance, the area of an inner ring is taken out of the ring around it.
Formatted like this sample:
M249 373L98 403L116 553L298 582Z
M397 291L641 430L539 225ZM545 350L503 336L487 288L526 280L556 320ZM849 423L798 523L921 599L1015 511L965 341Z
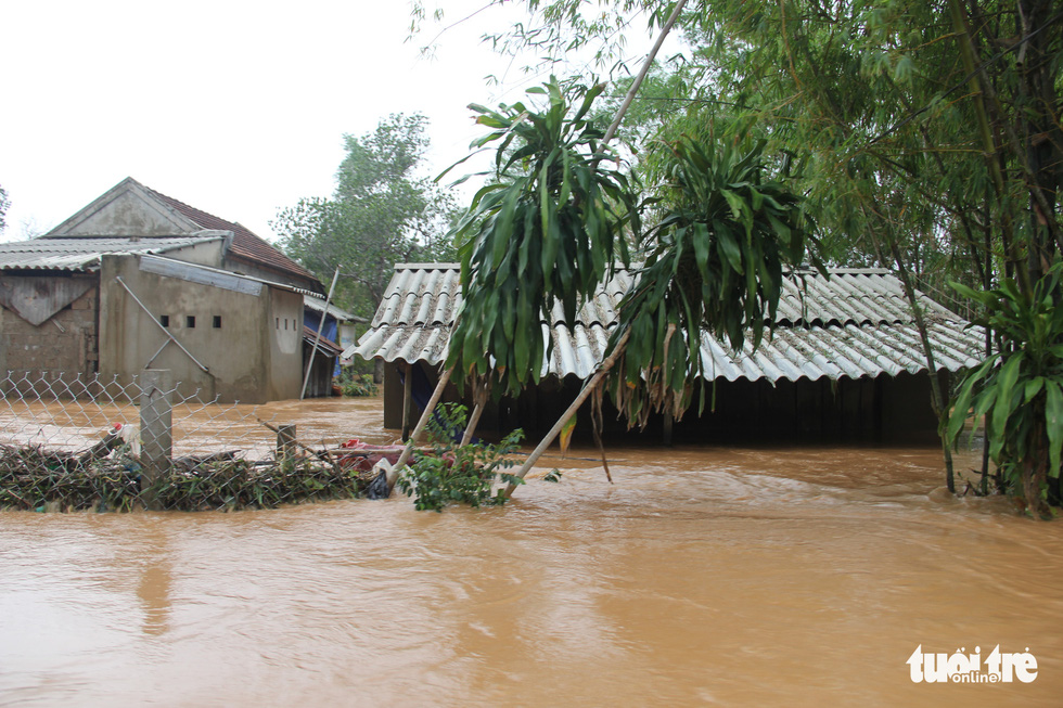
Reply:
M2 513L0 706L1063 705L1063 522L950 497L938 450L610 454L486 511ZM998 645L1036 679L911 680Z

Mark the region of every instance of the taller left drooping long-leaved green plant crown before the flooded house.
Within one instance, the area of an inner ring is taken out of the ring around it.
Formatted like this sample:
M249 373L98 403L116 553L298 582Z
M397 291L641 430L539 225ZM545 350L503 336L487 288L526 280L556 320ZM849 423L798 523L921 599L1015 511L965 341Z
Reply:
M551 80L528 91L545 98L541 110L471 106L490 129L474 146L495 143L497 152L494 179L456 229L463 301L447 365L459 382L494 377L498 396L538 383L542 322L554 302L574 322L581 300L628 262L622 230L638 229L638 209L604 131L588 118L601 91L566 94Z

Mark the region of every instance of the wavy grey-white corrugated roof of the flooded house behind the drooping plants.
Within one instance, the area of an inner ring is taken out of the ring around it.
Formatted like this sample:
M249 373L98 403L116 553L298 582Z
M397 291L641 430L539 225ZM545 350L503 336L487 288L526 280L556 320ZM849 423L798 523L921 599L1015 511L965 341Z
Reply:
M542 373L585 378L602 360L617 307L633 276L618 272L586 302L577 324L564 323L560 306L549 322L551 348ZM446 357L453 313L461 301L457 263L395 267L395 275L369 332L344 352L385 361L439 364ZM966 330L959 316L920 294L937 365L957 371L982 360L981 329ZM925 370L925 357L900 281L886 270L837 269L829 280L815 272L792 274L784 284L773 336L756 353L751 345L731 352L707 336L702 342L705 375L735 381L796 381L827 376L894 376Z

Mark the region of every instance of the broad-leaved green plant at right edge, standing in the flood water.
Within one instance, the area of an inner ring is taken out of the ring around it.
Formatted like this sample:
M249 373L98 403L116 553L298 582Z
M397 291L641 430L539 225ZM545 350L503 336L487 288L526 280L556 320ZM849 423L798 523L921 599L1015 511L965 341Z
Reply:
M1011 280L988 292L952 284L985 308L978 324L1008 346L960 382L946 439L956 442L972 409L976 420L985 416L989 454L1032 513L1042 503L1047 477L1059 477L1063 449L1061 270L1056 262L1028 295Z

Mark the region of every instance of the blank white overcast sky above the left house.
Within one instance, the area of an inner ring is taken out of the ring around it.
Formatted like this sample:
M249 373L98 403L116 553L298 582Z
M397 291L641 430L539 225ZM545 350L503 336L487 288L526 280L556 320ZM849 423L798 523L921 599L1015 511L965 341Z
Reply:
M443 4L450 23L484 2ZM513 21L509 9L449 29L424 60L418 48L436 30L407 42L404 0L0 8L5 241L48 231L126 177L272 240L279 208L331 194L344 133L421 112L435 176L482 133L469 103L511 103L540 82L479 44Z

